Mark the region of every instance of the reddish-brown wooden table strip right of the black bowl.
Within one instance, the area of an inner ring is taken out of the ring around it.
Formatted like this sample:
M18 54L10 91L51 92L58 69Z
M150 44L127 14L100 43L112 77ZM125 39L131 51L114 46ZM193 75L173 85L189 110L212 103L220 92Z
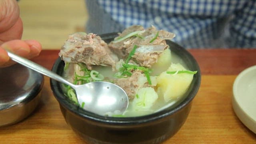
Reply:
M255 49L190 49L202 74L239 74L256 65Z

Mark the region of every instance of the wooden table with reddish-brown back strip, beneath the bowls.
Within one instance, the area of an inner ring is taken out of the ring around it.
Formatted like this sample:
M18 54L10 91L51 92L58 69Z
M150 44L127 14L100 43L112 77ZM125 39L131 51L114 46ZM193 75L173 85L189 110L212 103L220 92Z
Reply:
M198 61L202 82L191 112L180 131L164 144L241 143L256 144L251 132L232 109L232 85L245 68L256 65L256 49L189 50ZM51 69L58 50L43 50L34 62ZM32 115L0 128L0 143L83 143L66 124L45 77L41 102Z

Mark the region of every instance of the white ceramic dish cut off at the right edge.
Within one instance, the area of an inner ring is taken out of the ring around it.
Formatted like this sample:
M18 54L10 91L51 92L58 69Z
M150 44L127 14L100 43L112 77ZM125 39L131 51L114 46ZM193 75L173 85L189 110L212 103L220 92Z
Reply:
M246 68L236 77L232 105L242 123L256 133L256 66Z

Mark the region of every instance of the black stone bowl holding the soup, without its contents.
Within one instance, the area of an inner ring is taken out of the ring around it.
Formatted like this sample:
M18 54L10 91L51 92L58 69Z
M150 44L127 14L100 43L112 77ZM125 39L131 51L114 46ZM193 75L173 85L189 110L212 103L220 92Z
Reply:
M102 39L110 42L117 33L103 34ZM186 121L192 100L198 92L201 73L194 57L178 44L166 41L172 52L180 56L189 70L196 71L184 98L175 106L146 116L105 117L88 112L74 105L66 96L60 82L50 80L55 98L67 124L90 144L157 144L172 137ZM52 71L62 75L64 62L58 58Z

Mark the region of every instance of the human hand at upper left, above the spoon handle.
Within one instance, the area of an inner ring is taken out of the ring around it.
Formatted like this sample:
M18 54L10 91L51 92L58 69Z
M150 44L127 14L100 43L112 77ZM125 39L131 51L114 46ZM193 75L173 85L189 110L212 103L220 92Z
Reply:
M0 0L0 68L14 64L6 50L25 58L38 56L42 46L36 40L20 40L23 25L16 0Z

